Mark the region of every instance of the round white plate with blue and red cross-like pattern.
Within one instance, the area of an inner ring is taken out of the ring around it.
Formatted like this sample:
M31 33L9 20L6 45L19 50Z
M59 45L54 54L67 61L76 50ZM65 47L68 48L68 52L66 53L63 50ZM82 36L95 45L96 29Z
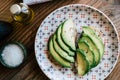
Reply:
M105 44L100 64L83 77L79 77L71 68L54 64L47 49L51 34L68 18L73 19L78 32L81 31L81 26L94 26L101 32ZM103 80L111 73L119 56L118 34L112 21L101 11L83 4L71 4L56 9L42 22L35 38L35 53L40 68L52 80Z

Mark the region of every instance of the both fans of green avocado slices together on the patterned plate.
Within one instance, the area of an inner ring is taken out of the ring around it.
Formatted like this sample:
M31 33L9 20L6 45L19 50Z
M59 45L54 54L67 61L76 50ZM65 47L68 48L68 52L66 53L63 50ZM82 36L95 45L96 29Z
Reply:
M73 21L68 19L58 26L48 42L50 54L63 67L71 68L71 63L76 60L80 76L84 76L99 64L105 48L102 39L92 28L89 26L82 28L82 36L76 41L76 27Z

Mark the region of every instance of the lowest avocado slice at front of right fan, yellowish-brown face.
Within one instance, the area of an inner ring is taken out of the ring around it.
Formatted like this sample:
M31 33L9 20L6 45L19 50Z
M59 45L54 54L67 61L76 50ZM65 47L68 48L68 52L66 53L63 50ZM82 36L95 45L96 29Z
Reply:
M76 55L78 75L83 76L89 71L89 61L86 58L86 53L81 49L77 49Z

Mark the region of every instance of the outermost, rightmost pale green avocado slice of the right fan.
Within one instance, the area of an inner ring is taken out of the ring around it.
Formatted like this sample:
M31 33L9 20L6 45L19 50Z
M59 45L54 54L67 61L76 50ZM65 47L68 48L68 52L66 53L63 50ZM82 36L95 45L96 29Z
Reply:
M100 51L100 59L103 57L104 54L104 44L100 37L98 37L95 34L95 31L93 31L90 27L83 27L83 36L88 36L95 44L95 46L99 49Z

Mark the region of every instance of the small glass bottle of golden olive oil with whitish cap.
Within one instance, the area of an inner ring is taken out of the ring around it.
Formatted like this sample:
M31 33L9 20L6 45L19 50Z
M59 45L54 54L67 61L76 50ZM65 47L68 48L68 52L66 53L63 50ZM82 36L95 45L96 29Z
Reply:
M24 3L14 4L10 7L12 13L12 22L28 24L34 17L34 12Z

